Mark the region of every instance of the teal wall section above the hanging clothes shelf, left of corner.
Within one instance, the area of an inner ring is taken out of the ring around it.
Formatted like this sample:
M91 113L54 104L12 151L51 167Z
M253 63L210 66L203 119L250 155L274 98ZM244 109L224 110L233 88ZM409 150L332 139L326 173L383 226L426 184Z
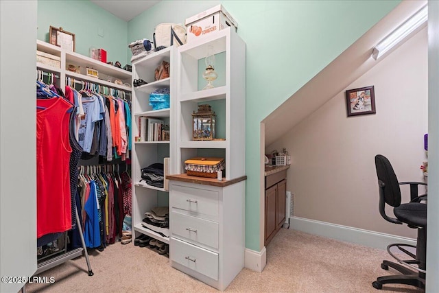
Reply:
M76 52L88 56L90 47L107 51L107 61L127 64L128 23L91 1L38 0L38 40L49 41L49 27L75 34ZM99 36L98 30L104 31Z

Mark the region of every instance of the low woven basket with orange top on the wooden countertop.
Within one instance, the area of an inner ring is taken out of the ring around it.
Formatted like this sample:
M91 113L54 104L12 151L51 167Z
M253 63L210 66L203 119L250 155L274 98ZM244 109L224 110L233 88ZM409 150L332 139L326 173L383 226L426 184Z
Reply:
M196 157L185 161L186 174L206 178L217 178L217 172L226 167L222 158Z

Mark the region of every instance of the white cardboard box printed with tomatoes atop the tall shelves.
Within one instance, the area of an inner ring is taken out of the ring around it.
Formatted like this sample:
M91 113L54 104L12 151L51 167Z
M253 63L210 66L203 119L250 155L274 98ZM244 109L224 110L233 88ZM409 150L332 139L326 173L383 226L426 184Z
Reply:
M222 5L203 11L195 16L186 19L185 25L187 28L187 43L196 40L200 36L211 34L224 27L238 28L238 24L230 14L224 9Z

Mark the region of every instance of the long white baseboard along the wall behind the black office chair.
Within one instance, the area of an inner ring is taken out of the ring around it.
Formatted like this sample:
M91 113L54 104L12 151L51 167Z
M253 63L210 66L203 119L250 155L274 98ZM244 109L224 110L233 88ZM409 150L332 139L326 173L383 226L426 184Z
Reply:
M407 237L400 237L305 218L291 217L289 220L290 229L355 244L361 244L372 248L385 249L389 244L392 243L416 245L416 239Z

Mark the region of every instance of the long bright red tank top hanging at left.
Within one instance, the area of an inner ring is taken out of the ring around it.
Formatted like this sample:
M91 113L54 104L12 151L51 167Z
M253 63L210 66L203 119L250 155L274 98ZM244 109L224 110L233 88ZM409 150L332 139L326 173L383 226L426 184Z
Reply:
M36 236L71 229L69 117L62 97L37 99Z

